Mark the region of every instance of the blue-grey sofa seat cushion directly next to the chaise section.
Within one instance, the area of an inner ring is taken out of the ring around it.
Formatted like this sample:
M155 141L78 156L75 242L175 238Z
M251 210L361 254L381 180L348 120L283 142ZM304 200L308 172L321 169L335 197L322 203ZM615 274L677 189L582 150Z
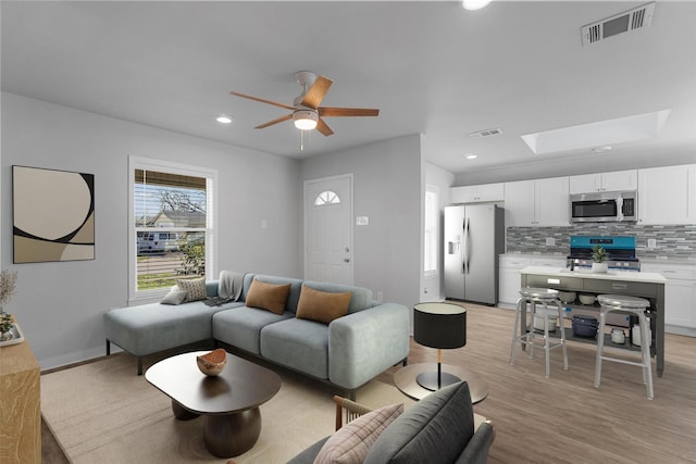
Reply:
M213 316L213 338L250 353L261 354L261 329L288 318L294 318L294 314L275 314L258 308L239 306L221 311Z

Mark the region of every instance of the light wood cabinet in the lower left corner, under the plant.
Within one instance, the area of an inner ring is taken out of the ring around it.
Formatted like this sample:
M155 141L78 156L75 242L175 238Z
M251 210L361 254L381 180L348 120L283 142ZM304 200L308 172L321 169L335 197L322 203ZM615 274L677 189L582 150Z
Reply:
M26 340L0 348L0 463L41 463L40 368Z

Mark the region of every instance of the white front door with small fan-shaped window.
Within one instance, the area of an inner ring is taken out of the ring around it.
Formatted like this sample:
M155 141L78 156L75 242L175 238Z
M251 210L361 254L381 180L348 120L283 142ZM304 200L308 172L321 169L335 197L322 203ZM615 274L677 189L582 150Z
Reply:
M352 285L352 175L304 181L304 279Z

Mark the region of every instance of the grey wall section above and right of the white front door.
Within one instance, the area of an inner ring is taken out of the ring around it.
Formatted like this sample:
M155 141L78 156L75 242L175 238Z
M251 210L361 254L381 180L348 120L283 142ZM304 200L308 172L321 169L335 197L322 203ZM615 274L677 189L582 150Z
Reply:
M302 180L353 174L353 213L370 220L353 225L355 285L409 308L420 301L423 274L422 171L420 135L301 162Z

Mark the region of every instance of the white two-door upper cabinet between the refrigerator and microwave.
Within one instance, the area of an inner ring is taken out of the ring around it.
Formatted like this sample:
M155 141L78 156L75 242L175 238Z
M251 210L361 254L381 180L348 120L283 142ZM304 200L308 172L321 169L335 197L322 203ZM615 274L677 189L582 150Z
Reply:
M506 183L506 226L567 226L568 183L568 177Z

